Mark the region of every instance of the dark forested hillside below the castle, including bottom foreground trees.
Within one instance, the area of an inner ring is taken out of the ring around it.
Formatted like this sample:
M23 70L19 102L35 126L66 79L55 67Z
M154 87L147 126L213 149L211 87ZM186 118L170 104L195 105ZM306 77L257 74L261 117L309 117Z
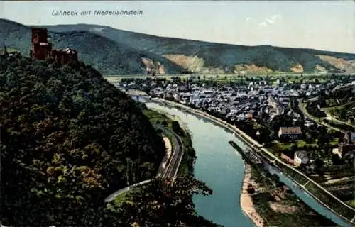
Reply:
M83 63L0 55L0 222L12 227L217 226L195 214L191 177L152 179L165 145L133 99Z

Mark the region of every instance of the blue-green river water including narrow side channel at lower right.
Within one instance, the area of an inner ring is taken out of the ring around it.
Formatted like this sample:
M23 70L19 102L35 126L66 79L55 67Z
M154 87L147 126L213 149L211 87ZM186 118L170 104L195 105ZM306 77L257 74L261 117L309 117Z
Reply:
M246 145L235 135L206 118L155 103L147 103L147 106L178 116L182 122L187 124L192 133L192 145L197 155L194 166L195 177L206 182L214 191L212 196L194 198L197 212L226 227L253 226L251 221L244 216L239 204L241 182L244 179L244 162L241 156L234 152L228 141L233 140L242 149ZM282 172L274 167L269 167L268 170L271 174L278 175L280 180L293 189L295 194L312 209L327 216L339 226L352 226L293 184Z

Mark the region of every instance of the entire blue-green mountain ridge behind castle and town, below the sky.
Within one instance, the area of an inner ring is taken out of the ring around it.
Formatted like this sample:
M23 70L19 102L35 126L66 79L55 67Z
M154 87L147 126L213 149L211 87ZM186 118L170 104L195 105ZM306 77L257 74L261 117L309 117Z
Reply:
M70 45L79 50L80 59L103 74L355 72L351 53L209 43L89 24L41 27L53 34L55 47ZM30 35L29 26L0 19L0 41L10 36L5 40L9 48L27 53Z

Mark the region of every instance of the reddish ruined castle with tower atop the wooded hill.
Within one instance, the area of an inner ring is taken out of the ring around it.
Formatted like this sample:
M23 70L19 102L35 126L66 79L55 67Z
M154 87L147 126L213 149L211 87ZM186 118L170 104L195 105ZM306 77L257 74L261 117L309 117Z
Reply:
M77 51L71 48L52 50L47 28L32 28L30 55L35 60L53 60L61 65L77 61Z

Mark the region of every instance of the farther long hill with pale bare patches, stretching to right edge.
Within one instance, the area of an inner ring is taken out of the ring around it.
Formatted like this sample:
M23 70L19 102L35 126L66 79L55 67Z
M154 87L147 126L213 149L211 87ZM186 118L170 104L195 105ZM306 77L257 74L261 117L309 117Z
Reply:
M305 48L245 46L165 38L109 26L89 24L46 26L50 31L90 31L153 52L192 72L355 72L355 54Z

